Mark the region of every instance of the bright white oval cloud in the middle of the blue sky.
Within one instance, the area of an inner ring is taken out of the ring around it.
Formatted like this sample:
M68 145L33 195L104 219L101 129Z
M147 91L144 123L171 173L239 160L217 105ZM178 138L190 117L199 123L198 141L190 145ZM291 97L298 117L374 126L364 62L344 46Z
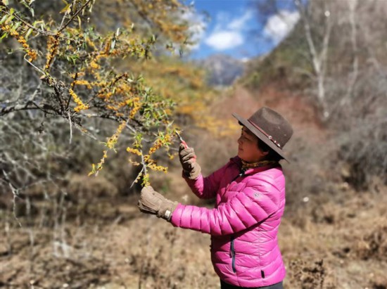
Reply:
M205 44L211 46L212 49L222 51L234 48L243 44L242 34L234 31L215 32L205 39Z

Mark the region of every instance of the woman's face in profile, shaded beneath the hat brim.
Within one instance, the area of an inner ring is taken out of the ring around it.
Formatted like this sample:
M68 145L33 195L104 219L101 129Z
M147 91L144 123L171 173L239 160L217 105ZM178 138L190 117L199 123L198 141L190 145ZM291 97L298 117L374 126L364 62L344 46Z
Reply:
M245 162L259 162L263 160L267 152L258 148L258 137L246 127L242 127L241 136L238 139L238 156Z

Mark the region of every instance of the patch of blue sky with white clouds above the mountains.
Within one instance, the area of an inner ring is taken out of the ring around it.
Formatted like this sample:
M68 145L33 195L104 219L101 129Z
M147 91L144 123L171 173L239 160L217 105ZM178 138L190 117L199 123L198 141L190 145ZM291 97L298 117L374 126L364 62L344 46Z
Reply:
M248 59L271 51L291 30L299 18L293 1L280 0L277 12L262 15L253 9L260 0L193 1L198 44L191 58L200 59L215 53ZM208 13L210 19L206 16Z

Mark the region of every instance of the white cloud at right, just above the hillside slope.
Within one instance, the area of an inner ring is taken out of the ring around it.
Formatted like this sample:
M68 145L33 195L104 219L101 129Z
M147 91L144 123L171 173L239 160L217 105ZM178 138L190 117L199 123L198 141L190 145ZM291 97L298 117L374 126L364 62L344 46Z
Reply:
M298 11L279 11L267 20L263 33L266 37L272 39L275 44L278 44L293 29L299 19L300 14Z

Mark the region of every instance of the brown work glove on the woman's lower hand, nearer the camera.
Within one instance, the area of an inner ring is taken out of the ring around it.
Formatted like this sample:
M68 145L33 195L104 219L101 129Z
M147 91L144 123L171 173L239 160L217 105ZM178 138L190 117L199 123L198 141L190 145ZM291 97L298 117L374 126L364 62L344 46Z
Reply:
M140 211L146 214L156 214L157 217L169 221L172 212L177 207L177 202L167 200L160 193L153 190L151 186L146 186L141 190L139 203L137 204Z

